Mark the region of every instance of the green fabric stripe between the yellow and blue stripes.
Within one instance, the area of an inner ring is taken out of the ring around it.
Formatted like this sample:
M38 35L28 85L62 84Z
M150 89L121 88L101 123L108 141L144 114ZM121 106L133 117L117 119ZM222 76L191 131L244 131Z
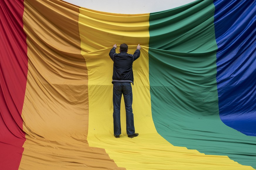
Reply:
M150 14L153 121L157 132L175 146L227 155L255 168L255 157L247 156L254 155L255 138L219 117L214 9L212 0L199 0Z

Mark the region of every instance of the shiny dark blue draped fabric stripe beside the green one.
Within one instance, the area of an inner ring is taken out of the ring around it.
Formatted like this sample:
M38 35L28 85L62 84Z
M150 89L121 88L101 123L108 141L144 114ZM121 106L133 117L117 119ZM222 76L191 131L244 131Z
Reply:
M215 0L219 114L256 136L256 1Z

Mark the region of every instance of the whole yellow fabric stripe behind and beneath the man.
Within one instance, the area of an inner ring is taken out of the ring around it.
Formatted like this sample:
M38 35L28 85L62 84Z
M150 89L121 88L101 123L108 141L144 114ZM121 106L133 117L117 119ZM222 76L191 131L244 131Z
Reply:
M175 147L157 133L151 115L148 19L149 14L110 14L80 8L79 33L89 78L89 146L104 148L118 167L131 170L252 169L227 156L205 155L196 150ZM128 53L133 53L138 44L142 46L141 56L133 64L133 113L135 131L140 133L133 139L126 135L123 99L122 134L120 138L113 136L113 61L108 53L113 44L121 43L128 44Z

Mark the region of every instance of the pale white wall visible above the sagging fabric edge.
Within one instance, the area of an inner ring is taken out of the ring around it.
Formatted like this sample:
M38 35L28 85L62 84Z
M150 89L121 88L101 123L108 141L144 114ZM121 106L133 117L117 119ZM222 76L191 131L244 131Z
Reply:
M193 2L195 0L64 0L71 4L96 11L141 14L164 11Z

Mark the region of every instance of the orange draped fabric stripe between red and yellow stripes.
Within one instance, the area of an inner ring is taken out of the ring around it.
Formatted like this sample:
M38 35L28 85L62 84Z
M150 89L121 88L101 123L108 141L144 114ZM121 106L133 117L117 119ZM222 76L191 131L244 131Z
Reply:
M79 7L57 0L24 5L28 81L19 169L119 169L104 149L87 142L88 74L80 48Z

